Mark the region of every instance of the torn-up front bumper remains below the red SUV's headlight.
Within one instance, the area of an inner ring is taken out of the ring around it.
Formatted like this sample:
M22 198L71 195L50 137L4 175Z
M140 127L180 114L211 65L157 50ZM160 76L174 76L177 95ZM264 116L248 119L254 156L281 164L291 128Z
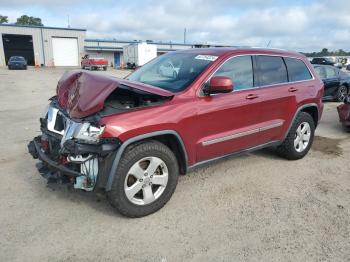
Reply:
M42 136L47 142L42 142ZM102 140L98 144L67 140L63 147L57 150L54 148L59 144L57 137L50 137L48 132L43 132L42 136L30 141L28 151L34 159L41 160L42 163L37 165L37 168L48 182L74 183L76 189L91 191L99 177L98 186L105 187L111 159L120 147L118 140Z

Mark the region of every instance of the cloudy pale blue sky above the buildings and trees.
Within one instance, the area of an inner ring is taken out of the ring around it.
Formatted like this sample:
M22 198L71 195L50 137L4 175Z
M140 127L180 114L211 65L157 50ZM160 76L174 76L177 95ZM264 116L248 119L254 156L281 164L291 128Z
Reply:
M10 22L87 29L89 38L350 51L349 0L0 0Z

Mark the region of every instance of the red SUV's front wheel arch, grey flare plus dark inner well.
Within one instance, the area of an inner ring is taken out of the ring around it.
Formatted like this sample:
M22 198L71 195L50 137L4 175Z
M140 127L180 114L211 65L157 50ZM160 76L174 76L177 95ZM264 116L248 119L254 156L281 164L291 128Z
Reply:
M105 190L110 191L114 177L116 175L116 171L118 168L119 161L125 152L125 149L133 144L143 142L143 141L148 141L148 140L157 140L172 150L178 160L179 168L180 168L180 173L185 174L187 172L187 167L188 167L188 157L187 157L187 151L185 148L185 145L183 143L183 140L181 136L174 130L161 130L161 131L156 131L156 132L151 132L147 134L142 134L139 136L132 137L122 143L120 148L118 149L115 158L112 162L111 169L109 171L107 183Z

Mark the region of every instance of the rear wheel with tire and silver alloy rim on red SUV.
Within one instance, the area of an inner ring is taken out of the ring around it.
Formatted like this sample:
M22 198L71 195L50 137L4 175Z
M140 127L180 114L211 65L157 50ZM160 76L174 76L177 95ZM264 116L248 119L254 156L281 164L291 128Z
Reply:
M305 134L302 130L305 129ZM315 123L306 112L298 114L283 143L277 147L277 153L288 159L303 158L310 150L315 135Z

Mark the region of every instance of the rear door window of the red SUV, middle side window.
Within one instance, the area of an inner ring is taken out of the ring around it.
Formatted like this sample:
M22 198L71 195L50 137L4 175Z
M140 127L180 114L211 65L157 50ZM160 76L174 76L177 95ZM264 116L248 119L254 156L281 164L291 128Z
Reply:
M282 57L257 56L260 85L273 85L288 82L287 69Z

